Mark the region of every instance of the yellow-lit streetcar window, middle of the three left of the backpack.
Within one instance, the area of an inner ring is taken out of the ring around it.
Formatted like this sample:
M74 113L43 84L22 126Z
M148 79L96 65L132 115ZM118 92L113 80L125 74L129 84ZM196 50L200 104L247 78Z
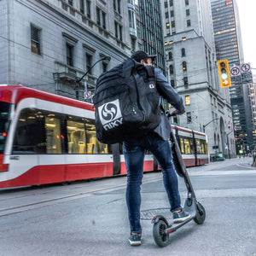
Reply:
M68 154L85 154L84 122L67 120L67 146Z

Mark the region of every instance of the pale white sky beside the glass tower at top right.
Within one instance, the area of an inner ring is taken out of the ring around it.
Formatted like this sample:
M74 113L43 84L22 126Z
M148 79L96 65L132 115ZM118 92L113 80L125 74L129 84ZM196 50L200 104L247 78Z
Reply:
M251 63L256 73L256 0L236 0L241 24L245 63Z

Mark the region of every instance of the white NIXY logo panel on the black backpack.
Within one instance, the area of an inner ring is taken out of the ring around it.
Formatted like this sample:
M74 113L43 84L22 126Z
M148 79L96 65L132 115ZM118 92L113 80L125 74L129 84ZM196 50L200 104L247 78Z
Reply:
M99 116L106 131L123 123L119 100L108 102L99 107Z

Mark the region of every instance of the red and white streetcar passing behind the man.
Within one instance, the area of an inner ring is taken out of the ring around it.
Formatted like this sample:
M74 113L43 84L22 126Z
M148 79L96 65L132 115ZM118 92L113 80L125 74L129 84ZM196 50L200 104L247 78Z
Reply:
M204 133L173 126L186 166L209 162ZM146 154L144 172L157 169ZM125 174L121 145L96 139L92 104L0 85L0 188Z

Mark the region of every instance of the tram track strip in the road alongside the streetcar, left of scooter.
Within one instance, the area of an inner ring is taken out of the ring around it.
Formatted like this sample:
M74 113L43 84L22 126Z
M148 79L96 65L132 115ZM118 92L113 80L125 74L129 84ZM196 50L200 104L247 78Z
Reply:
M152 173L146 177L144 183L154 182L161 179L157 173ZM65 188L56 186L47 186L40 189L20 189L20 195L17 191L5 192L2 194L0 205L0 217L29 211L38 207L45 207L63 201L70 201L84 198L96 193L108 193L116 189L124 189L126 186L126 177L119 177L118 182L115 178L102 179L93 183L70 184Z

